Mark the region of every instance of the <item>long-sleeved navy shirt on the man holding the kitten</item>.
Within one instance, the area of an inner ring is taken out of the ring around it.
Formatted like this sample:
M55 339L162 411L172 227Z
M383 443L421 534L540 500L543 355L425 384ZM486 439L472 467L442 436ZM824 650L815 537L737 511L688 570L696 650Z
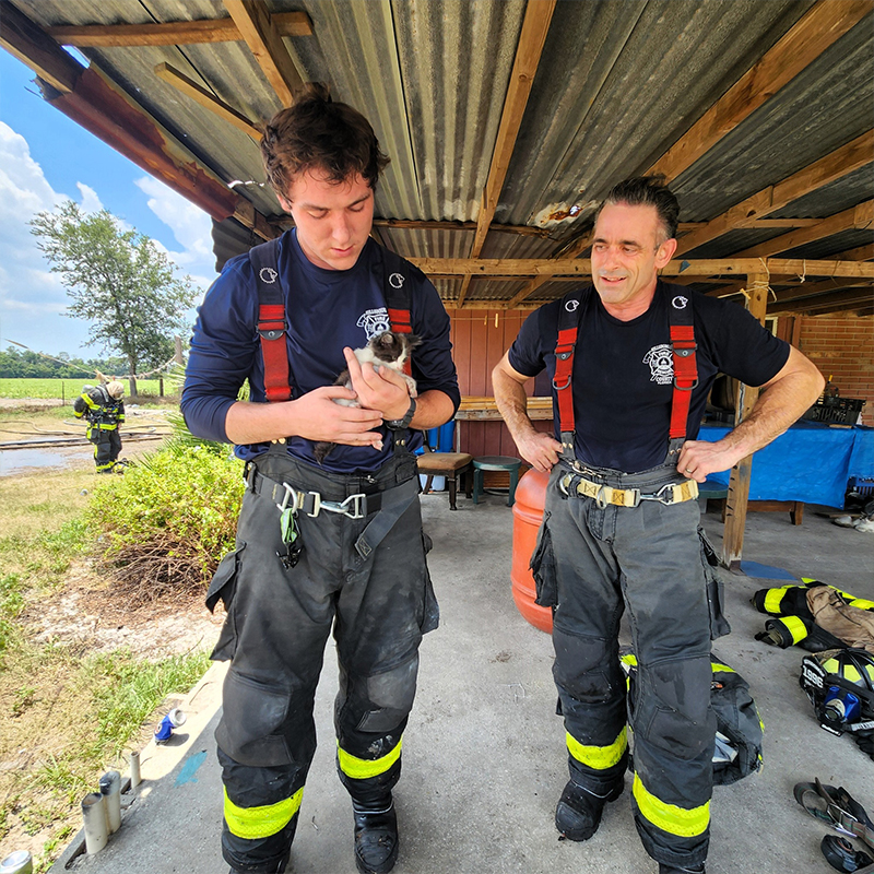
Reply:
M294 231L283 234L277 265L286 293L288 359L293 397L333 383L346 368L343 346L357 349L375 334L390 329L382 291L382 249L368 240L350 270L324 270L300 250ZM412 373L420 393L445 392L458 409L460 394L449 342L447 316L436 288L412 264L405 264L413 333L422 345L413 351ZM225 418L248 378L250 400L264 401L264 368L258 322L258 287L248 255L227 262L198 311L186 369L181 409L191 432L211 440L227 441ZM323 468L349 473L377 470L392 452L392 433L382 429L383 448L336 446ZM411 449L422 438L413 433ZM312 441L288 440L288 452L316 464ZM243 459L267 449L267 444L239 446Z

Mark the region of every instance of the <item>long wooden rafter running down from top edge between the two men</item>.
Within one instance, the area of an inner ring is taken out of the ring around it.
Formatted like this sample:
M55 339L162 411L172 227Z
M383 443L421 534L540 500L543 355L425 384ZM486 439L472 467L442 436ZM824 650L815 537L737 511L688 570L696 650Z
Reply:
M510 166L516 138L519 135L522 116L528 105L528 97L531 94L531 86L534 83L534 74L538 71L540 56L546 42L546 33L550 29L555 4L556 0L528 0L528 5L525 7L525 16L519 34L519 44L516 48L516 59L510 73L507 96L504 99L504 111L500 116L495 150L492 153L488 179L483 191L480 214L476 217L476 233L471 246L471 258L479 258L480 252L482 252L488 227L498 208L498 199L504 188L504 180L507 178L507 169ZM462 283L461 292L458 296L459 306L464 304L469 283L469 279L465 279Z

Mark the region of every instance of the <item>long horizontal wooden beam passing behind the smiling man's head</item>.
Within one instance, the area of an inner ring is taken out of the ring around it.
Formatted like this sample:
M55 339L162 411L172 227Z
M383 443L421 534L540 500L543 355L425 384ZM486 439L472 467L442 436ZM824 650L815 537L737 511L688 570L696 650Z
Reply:
M409 258L420 270L445 276L586 276L591 275L588 258ZM701 258L670 261L661 271L665 276L746 275L751 269L767 269L771 276L874 276L867 261L814 261L801 258ZM728 281L728 280L727 280Z

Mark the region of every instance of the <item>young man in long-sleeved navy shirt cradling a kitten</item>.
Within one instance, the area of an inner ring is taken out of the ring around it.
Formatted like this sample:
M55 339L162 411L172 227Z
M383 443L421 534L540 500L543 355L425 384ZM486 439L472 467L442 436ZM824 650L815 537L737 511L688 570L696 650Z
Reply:
M285 871L333 629L355 862L385 874L418 646L438 619L410 450L460 400L449 318L424 274L369 238L388 158L359 113L310 83L267 125L261 151L295 228L227 263L200 309L182 392L191 430L236 444L247 462L236 551L208 594L227 609L213 658L231 660L216 730L223 853L232 872ZM421 340L415 399L402 374L352 354L390 327ZM332 386L344 368L353 390ZM338 445L321 464L318 441Z

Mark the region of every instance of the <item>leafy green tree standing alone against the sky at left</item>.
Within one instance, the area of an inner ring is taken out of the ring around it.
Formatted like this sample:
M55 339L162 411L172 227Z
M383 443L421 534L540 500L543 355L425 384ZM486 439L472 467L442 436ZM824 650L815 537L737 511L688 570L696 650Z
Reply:
M31 233L60 274L72 299L66 315L91 322L88 341L128 363L131 394L137 374L173 355L173 334L198 295L189 276L135 229L123 231L107 210L84 213L72 200L37 213Z

